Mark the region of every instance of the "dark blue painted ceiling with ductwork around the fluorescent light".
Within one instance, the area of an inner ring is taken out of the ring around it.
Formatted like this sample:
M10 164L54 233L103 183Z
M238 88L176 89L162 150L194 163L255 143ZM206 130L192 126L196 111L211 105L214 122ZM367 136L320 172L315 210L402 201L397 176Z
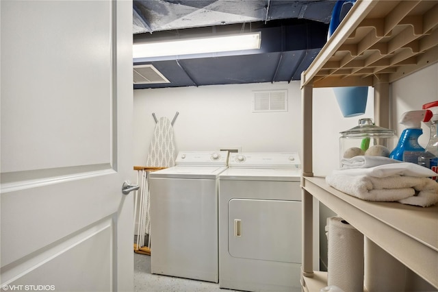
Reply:
M326 42L334 5L335 0L134 0L134 43L261 32L259 50L134 59L134 71L151 64L170 81L134 88L300 80Z

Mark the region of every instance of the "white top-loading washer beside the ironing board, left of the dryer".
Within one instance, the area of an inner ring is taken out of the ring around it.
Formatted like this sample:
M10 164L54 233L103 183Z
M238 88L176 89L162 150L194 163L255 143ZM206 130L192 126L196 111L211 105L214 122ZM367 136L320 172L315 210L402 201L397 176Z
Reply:
M180 151L150 174L151 272L218 282L218 175L228 151Z

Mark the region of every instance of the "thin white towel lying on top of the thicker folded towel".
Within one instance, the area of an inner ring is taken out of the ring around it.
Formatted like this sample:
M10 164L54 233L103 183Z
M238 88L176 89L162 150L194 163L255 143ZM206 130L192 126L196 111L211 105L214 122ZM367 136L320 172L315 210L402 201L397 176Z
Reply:
M374 178L387 178L393 175L407 175L413 177L430 178L437 173L422 167L421 165L415 165L411 162L391 163L387 165L378 165L376 167L369 168L357 168L357 169L340 169L333 171L333 174L337 175L369 175Z

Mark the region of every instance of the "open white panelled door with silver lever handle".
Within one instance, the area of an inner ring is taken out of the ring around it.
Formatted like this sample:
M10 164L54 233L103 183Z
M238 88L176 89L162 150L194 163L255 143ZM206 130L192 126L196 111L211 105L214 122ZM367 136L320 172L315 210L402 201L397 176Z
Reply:
M0 10L1 288L132 291L132 2Z

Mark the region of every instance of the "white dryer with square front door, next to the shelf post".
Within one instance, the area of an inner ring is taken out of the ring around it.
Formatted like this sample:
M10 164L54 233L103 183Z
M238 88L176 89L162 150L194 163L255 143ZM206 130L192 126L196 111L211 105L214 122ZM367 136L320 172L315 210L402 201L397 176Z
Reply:
M231 153L219 175L219 286L301 291L300 158Z

